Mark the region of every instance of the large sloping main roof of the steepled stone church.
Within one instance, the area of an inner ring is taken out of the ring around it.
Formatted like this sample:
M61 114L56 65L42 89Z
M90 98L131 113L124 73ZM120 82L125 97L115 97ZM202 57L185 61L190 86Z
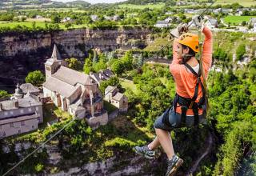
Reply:
M66 82L72 86L75 86L77 83L82 85L91 85L90 76L80 73L76 70L72 70L65 66L61 66L52 77L61 80L62 82ZM58 85L58 84L56 84Z

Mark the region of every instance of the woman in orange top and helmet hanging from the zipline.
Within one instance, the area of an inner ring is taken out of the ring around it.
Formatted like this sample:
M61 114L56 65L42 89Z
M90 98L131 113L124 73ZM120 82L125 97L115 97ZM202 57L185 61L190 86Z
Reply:
M212 63L213 39L211 31L201 21L200 16L193 18L195 26L205 35L203 48L199 41L200 34L182 34L188 30L186 24L178 26L178 35L173 34L173 61L170 64L170 73L174 77L176 87L173 105L154 122L157 137L146 146L134 148L137 154L155 158L154 150L162 146L168 158L166 176L174 175L183 162L182 158L174 153L170 131L206 122L207 98L206 85L203 82ZM196 58L198 53L200 62Z

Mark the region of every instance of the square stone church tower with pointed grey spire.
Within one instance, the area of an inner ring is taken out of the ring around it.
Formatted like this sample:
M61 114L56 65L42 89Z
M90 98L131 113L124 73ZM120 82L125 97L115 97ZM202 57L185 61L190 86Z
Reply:
M46 79L54 74L60 66L66 66L66 62L62 60L61 54L58 52L57 46L54 44L53 54L45 63Z

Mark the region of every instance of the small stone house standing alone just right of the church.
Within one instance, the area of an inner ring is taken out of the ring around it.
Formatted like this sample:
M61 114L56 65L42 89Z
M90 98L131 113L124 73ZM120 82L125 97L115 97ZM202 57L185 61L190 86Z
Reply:
M128 98L118 91L118 88L114 86L107 86L104 99L116 106L119 112L126 112L128 110Z

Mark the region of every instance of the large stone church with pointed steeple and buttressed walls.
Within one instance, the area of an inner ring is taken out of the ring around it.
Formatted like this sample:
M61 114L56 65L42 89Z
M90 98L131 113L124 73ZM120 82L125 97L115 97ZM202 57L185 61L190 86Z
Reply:
M106 125L108 115L103 109L102 93L90 75L66 67L54 45L53 54L45 63L46 82L44 98L50 98L55 106L74 115L86 118L90 126Z

